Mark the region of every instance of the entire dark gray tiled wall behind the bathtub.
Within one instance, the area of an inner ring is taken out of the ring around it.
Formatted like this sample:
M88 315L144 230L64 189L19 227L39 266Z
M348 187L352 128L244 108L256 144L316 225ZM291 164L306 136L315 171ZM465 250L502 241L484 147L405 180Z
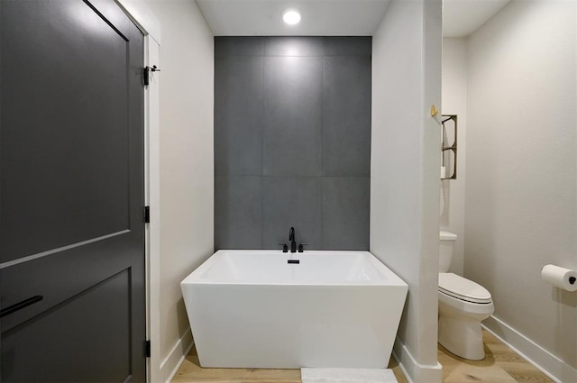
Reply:
M369 250L371 37L215 37L215 249Z

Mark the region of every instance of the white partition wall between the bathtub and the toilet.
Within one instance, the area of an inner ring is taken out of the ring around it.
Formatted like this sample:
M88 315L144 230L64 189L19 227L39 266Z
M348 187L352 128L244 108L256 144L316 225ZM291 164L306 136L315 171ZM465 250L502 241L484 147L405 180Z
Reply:
M436 359L440 1L393 0L372 45L371 252L403 278L395 346L415 382L440 381Z

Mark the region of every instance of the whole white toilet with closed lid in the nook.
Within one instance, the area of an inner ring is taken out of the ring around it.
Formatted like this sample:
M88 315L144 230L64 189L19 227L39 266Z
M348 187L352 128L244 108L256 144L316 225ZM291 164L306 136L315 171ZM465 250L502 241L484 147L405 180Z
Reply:
M443 231L439 234L439 343L461 358L484 359L481 321L495 310L490 292L447 272L457 236Z

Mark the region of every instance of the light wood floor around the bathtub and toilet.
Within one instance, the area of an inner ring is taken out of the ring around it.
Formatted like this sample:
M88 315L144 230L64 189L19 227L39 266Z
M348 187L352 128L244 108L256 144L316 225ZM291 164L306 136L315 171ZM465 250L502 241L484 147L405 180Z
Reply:
M463 360L439 346L438 359L443 365L444 383L549 383L545 374L483 331L484 360ZM396 361L391 358L398 383L408 383ZM193 347L187 359L172 379L173 383L301 383L299 369L203 369Z

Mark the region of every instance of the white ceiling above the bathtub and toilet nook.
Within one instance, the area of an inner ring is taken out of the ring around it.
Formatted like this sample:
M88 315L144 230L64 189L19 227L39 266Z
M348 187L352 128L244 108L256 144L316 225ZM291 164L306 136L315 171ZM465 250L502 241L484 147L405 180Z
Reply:
M443 34L476 31L509 0L444 0ZM389 0L197 0L215 36L370 36ZM296 7L302 21L282 23L282 11Z

